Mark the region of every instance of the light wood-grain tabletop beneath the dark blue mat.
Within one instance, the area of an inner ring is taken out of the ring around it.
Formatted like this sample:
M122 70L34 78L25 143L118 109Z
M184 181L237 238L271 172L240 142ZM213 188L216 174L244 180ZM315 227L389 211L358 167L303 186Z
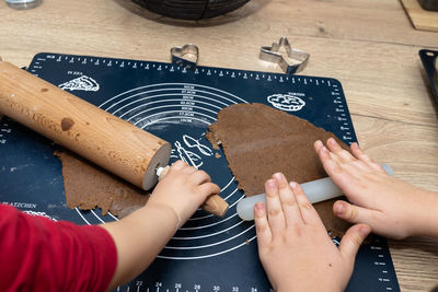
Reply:
M27 66L36 52L170 61L170 48L200 48L199 63L280 72L257 59L280 36L311 52L304 74L344 86L361 147L395 176L438 191L438 106L418 50L438 33L415 31L396 0L252 0L210 21L174 22L129 0L44 0L15 11L0 2L0 55ZM402 291L438 283L438 241L390 242Z

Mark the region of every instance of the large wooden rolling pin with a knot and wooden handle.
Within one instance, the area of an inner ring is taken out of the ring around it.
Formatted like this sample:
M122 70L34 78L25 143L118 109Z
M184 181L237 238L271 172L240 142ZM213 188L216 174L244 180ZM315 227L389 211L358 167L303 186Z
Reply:
M169 163L169 142L1 58L0 113L145 190ZM223 215L228 203L212 195L203 209Z

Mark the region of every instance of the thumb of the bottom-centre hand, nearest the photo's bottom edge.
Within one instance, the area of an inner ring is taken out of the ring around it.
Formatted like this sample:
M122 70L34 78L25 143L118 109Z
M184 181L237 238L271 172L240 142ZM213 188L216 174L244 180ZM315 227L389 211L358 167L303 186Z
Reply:
M364 240L370 234L371 227L366 224L356 224L347 230L339 244L339 253L343 258L355 262L357 250Z

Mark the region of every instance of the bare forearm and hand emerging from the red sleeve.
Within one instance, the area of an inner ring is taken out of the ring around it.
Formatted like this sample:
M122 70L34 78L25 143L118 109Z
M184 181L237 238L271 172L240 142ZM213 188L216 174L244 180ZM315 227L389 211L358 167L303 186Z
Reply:
M220 188L201 171L178 161L157 185L147 205L120 221L101 225L117 248L117 268L108 289L143 271L209 195Z

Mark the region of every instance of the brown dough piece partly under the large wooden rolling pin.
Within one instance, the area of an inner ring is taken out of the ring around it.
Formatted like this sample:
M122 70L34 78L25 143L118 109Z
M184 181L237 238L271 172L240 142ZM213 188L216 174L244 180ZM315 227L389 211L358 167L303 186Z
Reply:
M101 208L124 218L146 205L149 192L107 173L68 151L55 153L62 162L67 207L81 210Z

